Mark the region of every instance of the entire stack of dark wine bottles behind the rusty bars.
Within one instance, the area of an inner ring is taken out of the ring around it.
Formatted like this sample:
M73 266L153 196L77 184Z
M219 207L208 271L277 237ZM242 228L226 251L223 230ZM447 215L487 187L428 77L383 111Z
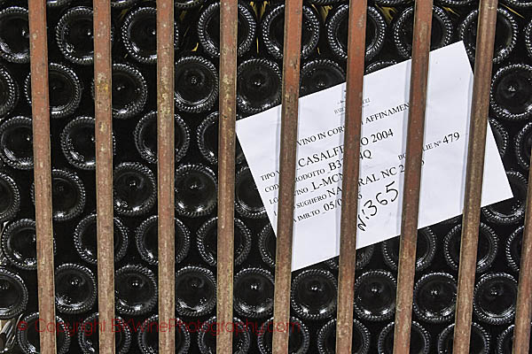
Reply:
M40 321L37 312L24 0L0 0L0 319L19 324L7 335L16 336L12 352L39 352L37 331L46 326L56 328L60 354L98 352L98 330L110 327L117 353L156 353L155 2L111 1L113 324L98 323L92 3L47 4L58 326ZM175 6L176 352L204 354L215 352L216 335L220 4L176 0ZM476 0L436 0L432 49L464 41L473 64L477 9ZM280 103L284 11L278 0L239 2L239 119ZM348 4L306 0L302 21L304 96L345 80ZM412 27L411 1L370 0L366 73L410 58ZM481 212L471 341L471 352L478 354L512 347L532 147L530 0L499 4L493 62L489 122L514 197ZM239 147L235 159L234 352L266 354L278 330L272 319L275 235ZM452 352L460 231L459 216L419 230L411 352ZM398 238L357 251L354 353L392 352L398 252ZM292 317L284 328L290 353L334 352L337 276L337 258L293 273Z

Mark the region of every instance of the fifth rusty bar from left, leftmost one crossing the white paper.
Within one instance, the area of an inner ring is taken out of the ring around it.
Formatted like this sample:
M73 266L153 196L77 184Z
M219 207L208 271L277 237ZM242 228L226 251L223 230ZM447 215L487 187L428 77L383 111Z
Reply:
M302 0L286 0L283 53L283 98L281 150L279 157L279 202L275 264L274 323L290 320L292 278L293 192L301 63ZM288 331L274 331L273 354L288 353Z

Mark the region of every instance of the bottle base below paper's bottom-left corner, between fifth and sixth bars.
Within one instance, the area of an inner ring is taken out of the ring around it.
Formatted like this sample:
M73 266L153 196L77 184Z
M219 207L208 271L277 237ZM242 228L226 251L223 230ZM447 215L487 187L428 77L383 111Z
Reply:
M332 273L308 269L293 280L290 304L301 319L327 319L336 311L337 290Z

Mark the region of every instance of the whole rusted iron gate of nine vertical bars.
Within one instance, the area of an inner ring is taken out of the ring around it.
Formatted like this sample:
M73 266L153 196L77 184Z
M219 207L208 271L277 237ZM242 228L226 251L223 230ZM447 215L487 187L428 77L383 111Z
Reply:
M31 87L35 156L35 219L37 235L37 276L41 319L54 319L54 279L51 219L50 110L48 100L48 49L46 0L30 0ZM222 0L220 11L220 125L219 125L219 207L218 207L218 289L217 321L232 320L233 288L233 207L235 171L235 116L237 69L237 0ZM290 313L290 280L293 231L293 190L295 141L299 97L302 0L286 0L285 52L280 157L278 247L275 273L274 320L287 322ZM353 284L355 279L357 189L360 150L361 106L364 75L366 2L350 0L348 33L347 109L343 198L340 224L340 272L336 351L351 352ZM174 4L157 0L157 108L158 108L158 197L159 197L159 319L174 317ZM489 86L497 0L480 0L480 15L473 82L471 132L465 181L465 209L458 271L458 300L454 353L469 352L473 307L473 281L481 207L481 180L489 110ZM418 225L419 181L425 121L426 80L432 0L415 5L412 51L411 95L408 143L403 195L403 219L395 313L394 353L410 352L411 304ZM99 320L111 323L114 317L113 291L113 154L111 119L111 7L110 0L94 0L94 76L97 139L98 212L98 312ZM532 170L531 170L532 171ZM529 180L532 175L529 176ZM532 189L532 183L528 189ZM528 193L520 281L515 318L513 353L528 353L532 281L532 193ZM41 332L41 351L56 353L52 331ZM114 335L99 335L100 348L114 353ZM160 352L175 351L175 337L159 333ZM274 353L288 352L288 333L273 334ZM216 339L218 353L230 353L232 333L222 331Z

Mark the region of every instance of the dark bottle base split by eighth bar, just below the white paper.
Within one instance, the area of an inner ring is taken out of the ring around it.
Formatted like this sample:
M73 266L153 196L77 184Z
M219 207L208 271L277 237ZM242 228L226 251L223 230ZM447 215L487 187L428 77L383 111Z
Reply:
M462 225L459 224L450 229L443 238L443 255L447 264L458 271L460 259L460 244L462 242ZM497 258L498 236L495 231L483 222L479 225L479 240L477 246L476 272L483 273L489 269Z

